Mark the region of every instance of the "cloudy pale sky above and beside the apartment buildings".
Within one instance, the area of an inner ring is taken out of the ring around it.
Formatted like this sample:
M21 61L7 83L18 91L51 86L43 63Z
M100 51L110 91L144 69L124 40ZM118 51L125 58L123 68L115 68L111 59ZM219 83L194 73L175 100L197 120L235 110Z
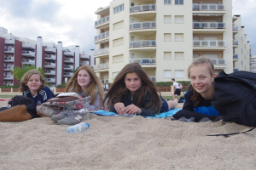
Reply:
M80 51L95 49L95 11L112 0L0 0L0 27L17 37L43 42L79 45ZM241 25L256 54L256 1L232 0L233 14L241 15Z

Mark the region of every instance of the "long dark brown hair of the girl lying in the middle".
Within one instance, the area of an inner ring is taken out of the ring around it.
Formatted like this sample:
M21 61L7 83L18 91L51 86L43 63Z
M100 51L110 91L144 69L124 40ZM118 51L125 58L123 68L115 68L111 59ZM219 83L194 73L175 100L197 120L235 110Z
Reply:
M143 67L138 63L131 63L125 65L122 71L114 78L111 88L108 89L103 104L107 104L108 107L112 107L115 103L123 100L123 95L128 94L129 90L125 86L125 76L128 73L136 73L138 77L142 80L142 86L139 88L135 94L135 102L138 107L143 107L144 100L148 92L151 95L151 100L148 105L152 105L149 111L152 111L156 107L157 114L160 113L161 100L159 97L160 92L155 88L154 82L149 79L147 73L143 70Z

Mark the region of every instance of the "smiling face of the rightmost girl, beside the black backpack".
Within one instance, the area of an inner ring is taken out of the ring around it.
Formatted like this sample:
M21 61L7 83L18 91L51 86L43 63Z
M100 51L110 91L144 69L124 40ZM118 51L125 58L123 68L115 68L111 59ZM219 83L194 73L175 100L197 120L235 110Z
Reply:
M212 77L211 72L209 71L209 65L201 64L197 66L192 66L189 69L190 73L190 81L195 88L195 90L201 94L201 96L205 99L212 98L212 82L214 80L214 77L217 75L214 74Z

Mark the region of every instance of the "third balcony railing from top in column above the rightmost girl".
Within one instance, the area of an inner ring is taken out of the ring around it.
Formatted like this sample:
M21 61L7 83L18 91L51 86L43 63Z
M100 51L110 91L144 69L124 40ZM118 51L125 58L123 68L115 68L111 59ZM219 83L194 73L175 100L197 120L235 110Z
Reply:
M193 41L193 46L194 47L209 47L209 48L216 48L216 47L221 47L225 48L226 47L226 41L216 41L216 40L194 40Z

